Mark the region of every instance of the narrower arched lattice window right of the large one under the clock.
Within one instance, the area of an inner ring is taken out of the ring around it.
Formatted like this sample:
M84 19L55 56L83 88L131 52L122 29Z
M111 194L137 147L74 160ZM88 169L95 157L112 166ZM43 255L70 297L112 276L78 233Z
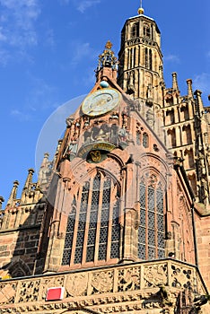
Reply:
M138 257L149 260L164 257L164 195L152 176L144 176L139 184Z

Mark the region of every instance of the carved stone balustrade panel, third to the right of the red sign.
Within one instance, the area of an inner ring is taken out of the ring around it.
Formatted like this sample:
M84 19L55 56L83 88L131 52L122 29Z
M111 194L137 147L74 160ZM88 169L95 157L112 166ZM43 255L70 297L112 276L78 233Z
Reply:
M118 271L118 292L140 289L140 268L130 267Z

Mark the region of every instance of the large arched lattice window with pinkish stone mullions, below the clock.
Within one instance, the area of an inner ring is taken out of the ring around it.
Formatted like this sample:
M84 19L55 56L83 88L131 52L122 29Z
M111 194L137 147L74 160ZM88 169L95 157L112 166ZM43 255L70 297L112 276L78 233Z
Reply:
M98 171L85 182L68 215L62 265L119 258L118 184Z

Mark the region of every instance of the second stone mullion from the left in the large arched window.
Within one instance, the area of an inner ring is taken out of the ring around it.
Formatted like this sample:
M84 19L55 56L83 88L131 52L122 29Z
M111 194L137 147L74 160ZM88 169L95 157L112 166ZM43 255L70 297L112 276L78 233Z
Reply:
M87 202L88 205L86 209L86 223L85 223L85 230L84 230L84 237L83 237L82 264L86 263L87 241L88 241L88 232L89 232L89 226L90 226L90 214L91 214L91 208L92 208L92 188L93 188L93 179L91 179L89 193L88 193L88 202Z

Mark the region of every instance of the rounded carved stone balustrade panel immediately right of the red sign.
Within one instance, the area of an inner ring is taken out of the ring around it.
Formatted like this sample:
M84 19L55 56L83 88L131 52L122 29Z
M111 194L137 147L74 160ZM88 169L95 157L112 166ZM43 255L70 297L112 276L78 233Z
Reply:
M88 274L69 275L66 280L66 291L71 296L86 295Z

